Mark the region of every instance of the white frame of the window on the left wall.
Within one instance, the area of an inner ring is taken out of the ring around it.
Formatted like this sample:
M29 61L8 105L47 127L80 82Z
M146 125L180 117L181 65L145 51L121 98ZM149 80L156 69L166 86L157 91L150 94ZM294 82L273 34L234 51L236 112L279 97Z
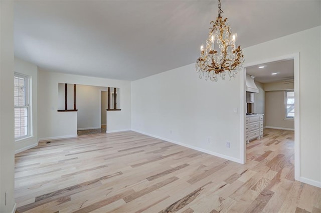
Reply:
M30 107L30 76L21 74L21 73L14 73L15 77L21 77L25 78L25 105L24 106L17 106L15 105L15 108L27 108L27 134L20 137L15 137L15 141L25 139L27 137L31 136L32 133L32 127L31 127L31 107ZM16 128L16 126L15 126Z

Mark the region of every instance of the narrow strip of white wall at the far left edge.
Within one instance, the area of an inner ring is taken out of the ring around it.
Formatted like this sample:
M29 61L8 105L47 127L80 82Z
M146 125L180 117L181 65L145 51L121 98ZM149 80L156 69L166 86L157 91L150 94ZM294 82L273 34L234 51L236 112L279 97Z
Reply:
M0 1L0 212L13 212L14 139L14 1ZM7 193L7 203L5 203Z

